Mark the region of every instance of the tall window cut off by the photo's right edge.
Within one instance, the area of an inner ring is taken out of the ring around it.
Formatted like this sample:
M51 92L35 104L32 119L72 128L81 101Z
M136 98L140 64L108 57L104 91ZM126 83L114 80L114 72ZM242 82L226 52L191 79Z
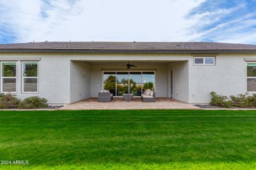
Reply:
M256 92L256 63L247 63L247 92Z

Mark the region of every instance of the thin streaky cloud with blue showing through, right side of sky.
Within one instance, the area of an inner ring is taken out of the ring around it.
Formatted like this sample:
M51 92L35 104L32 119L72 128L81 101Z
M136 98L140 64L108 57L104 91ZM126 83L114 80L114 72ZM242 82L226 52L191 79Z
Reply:
M229 8L212 8L189 17L197 27L192 28L192 41L212 40L242 44L256 43L256 12L250 12L245 2Z

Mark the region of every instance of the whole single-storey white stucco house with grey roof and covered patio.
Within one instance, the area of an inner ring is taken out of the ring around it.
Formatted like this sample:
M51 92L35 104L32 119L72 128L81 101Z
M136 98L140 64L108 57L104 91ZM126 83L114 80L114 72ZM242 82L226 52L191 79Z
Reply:
M30 42L1 44L1 92L68 104L110 90L209 103L256 92L256 45L216 42ZM126 68L127 63L137 67ZM146 85L145 85L146 84Z

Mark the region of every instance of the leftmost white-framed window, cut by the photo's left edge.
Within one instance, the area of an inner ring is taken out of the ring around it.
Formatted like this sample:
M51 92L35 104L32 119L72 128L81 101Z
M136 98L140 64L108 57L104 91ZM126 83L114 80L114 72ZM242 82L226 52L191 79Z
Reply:
M16 62L2 62L1 70L2 70L1 92L16 93L17 92Z

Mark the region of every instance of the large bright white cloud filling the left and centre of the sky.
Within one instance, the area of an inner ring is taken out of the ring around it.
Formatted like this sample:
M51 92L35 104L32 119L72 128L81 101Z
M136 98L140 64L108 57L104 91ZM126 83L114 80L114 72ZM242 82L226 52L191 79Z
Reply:
M0 1L0 30L28 41L189 41L196 19L185 15L204 0ZM1 36L1 34L0 34Z

